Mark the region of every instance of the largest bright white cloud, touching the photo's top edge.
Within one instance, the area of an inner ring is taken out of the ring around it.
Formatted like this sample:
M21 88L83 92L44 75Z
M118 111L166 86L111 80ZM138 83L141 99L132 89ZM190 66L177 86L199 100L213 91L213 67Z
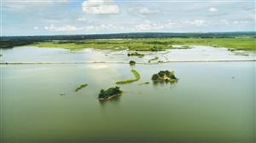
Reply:
M86 14L120 14L119 6L113 0L87 0L82 3Z

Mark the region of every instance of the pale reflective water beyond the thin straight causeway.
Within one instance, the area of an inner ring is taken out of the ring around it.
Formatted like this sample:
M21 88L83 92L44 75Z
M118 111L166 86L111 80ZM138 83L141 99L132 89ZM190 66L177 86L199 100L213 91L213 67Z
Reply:
M212 48L208 46L196 46L192 49L168 49L163 52L140 52L145 54L143 58L127 56L128 52L111 50L83 49L71 51L68 49L38 48L24 46L14 49L0 49L3 54L0 62L124 62L136 60L137 63L148 63L155 56L158 60L151 63L166 61L165 55L170 61L197 61L197 60L255 60L255 53L246 51L230 52L224 48ZM237 55L241 54L241 55ZM245 56L246 55L246 56Z

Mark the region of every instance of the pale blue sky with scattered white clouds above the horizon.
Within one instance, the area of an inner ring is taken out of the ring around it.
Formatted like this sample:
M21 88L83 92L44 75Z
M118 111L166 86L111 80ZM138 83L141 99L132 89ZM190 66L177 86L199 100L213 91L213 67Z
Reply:
M255 31L254 0L1 0L1 35Z

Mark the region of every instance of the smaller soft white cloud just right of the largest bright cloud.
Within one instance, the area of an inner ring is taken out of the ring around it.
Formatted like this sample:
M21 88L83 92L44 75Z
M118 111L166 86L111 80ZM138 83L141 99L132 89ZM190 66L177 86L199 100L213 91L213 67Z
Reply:
M127 8L127 11L130 14L143 14L143 15L160 13L160 11L158 10L149 10L148 8L142 7L142 6L130 6Z

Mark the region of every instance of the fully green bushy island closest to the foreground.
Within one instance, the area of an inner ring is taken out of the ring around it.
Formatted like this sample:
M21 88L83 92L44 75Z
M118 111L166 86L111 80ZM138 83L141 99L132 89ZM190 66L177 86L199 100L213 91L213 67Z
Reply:
M110 100L114 96L119 96L124 92L120 90L120 87L109 88L107 90L101 89L100 94L97 96L98 100Z

